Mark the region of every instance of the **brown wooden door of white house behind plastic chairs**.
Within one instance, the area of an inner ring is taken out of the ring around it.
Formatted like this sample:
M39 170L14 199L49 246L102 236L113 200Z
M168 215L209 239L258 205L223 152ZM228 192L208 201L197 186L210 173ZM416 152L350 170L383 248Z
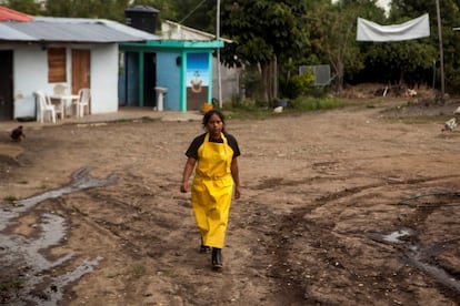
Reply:
M90 51L72 49L72 94L78 94L80 89L90 89ZM91 113L91 101L88 109Z

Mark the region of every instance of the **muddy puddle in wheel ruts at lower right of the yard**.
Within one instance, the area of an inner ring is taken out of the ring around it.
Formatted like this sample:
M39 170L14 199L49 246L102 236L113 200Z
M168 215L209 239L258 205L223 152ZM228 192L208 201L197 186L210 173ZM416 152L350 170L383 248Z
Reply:
M430 264L431 258L442 253L444 245L433 244L432 246L423 246L421 244L412 244L401 239L402 237L414 236L416 232L410 228L398 230L390 234L383 235L378 233L370 233L368 236L377 242L386 244L398 244L402 258L412 267L422 271L438 283L460 294L460 280L456 279L453 275L447 273L443 268Z

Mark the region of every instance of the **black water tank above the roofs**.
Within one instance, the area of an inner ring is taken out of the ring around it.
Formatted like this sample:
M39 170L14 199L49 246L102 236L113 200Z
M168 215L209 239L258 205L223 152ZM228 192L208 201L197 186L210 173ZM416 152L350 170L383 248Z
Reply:
M124 10L126 24L154 33L157 16L160 11L146 6L134 6Z

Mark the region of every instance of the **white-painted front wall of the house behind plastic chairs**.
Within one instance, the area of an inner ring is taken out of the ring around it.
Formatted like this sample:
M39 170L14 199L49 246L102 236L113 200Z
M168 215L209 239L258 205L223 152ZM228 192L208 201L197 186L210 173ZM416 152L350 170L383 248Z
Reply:
M2 49L13 49L13 118L36 116L33 92L54 92L56 85L66 86L71 92L72 69L71 49L91 51L91 113L118 111L118 44L67 45L67 82L48 82L47 50L39 44L18 44Z

